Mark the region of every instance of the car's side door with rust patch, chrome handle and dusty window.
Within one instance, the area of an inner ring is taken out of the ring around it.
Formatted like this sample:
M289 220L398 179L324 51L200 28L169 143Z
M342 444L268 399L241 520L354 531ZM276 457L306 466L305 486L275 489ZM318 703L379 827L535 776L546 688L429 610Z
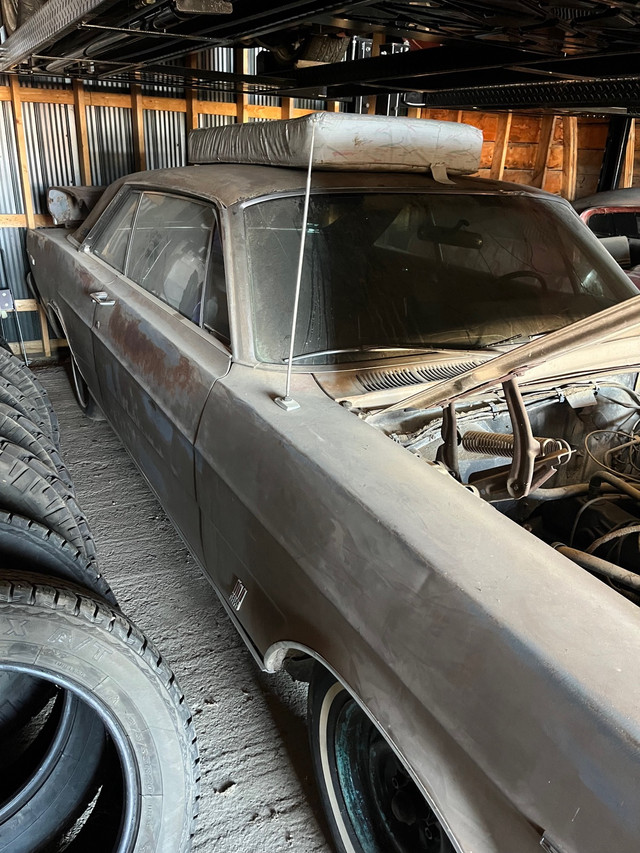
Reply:
M211 387L230 365L228 348L204 325L207 274L222 258L212 249L216 213L194 199L135 189L121 204L134 211L130 233L114 229L94 243L96 255L122 268L93 324L100 402L200 555L193 444Z

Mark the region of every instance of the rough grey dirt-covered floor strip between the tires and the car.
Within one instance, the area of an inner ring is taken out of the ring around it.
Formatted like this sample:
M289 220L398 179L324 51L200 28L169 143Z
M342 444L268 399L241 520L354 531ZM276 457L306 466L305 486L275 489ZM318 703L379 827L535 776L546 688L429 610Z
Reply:
M63 366L35 368L62 455L122 610L160 648L200 744L199 853L329 853L304 722L306 690L266 675L106 422L86 419Z

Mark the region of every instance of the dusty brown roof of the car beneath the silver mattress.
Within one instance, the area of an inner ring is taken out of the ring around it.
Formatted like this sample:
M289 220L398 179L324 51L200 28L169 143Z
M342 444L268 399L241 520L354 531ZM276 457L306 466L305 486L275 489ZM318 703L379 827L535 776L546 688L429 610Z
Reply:
M82 242L111 199L125 184L149 190L162 190L197 196L224 207L278 193L304 192L306 170L275 166L250 166L216 163L210 166L182 166L136 172L111 184L87 219L74 233ZM444 193L508 193L550 196L535 187L491 181L484 178L453 177L452 183L435 181L423 172L343 172L317 170L312 175L312 189L394 189L398 191L432 190Z

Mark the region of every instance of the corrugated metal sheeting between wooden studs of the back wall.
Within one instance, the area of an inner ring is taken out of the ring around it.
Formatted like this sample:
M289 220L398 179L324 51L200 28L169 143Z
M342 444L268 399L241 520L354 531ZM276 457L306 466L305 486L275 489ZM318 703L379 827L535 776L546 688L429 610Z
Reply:
M255 72L259 49L246 52L250 73ZM200 68L214 71L234 72L236 54L231 48L212 48L200 53L197 64ZM183 60L174 60L173 64L186 64ZM0 75L0 85L9 85L7 75ZM87 80L84 90L90 100L94 93L98 95L128 95L130 88L126 83ZM33 209L35 215L47 213L46 193L50 186L81 184L80 152L73 89L69 78L65 77L24 77L20 79L21 90L48 89L67 93L65 98L52 98L53 103L39 103L39 99L26 97L22 100L24 136L26 140L26 161L31 185ZM159 76L157 84L145 83L141 86L143 96L154 98L184 99L190 94L181 81L175 83L170 78ZM195 91L199 101L233 104L236 95L231 84L216 82L205 84ZM66 101L66 102L65 102ZM105 106L102 103L86 106L87 145L91 178L94 185L108 185L117 178L136 169L133 139L132 111L124 105ZM280 98L272 95L249 95L249 105L277 108ZM157 102L156 102L157 103ZM155 105L155 104L154 104ZM299 100L293 102L298 109L322 109L322 101ZM259 112L259 111L258 111ZM269 118L273 113L269 115ZM247 117L249 121L262 121L264 118ZM235 115L209 115L199 113L199 127L211 127L234 124ZM187 123L186 114L175 109L144 109L144 144L147 168L162 169L184 166L187 162ZM13 110L10 101L0 101L0 215L24 215L18 146L14 128ZM26 229L11 227L0 228L0 248L4 253L6 277L16 298L29 298L24 277L27 271L24 253ZM40 327L37 314L21 313L20 321L27 339L39 339ZM0 318L0 331L10 340L17 340L14 324Z

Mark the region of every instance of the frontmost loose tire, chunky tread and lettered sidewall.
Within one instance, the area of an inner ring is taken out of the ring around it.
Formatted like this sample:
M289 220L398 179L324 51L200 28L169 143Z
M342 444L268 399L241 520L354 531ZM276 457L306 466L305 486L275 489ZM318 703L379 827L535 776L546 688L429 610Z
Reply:
M100 717L122 791L110 851L190 850L199 786L192 717L162 655L133 623L55 580L2 573L0 667L54 682ZM113 781L107 771L106 787Z

